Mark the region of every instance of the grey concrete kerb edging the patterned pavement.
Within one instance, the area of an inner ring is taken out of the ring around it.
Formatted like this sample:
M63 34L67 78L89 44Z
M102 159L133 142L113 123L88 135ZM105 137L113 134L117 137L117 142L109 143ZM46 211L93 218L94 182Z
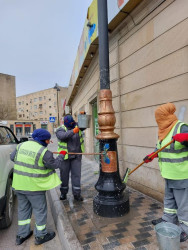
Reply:
M83 249L72 228L65 207L62 201L59 200L56 189L49 190L47 192L47 195L49 198L52 216L57 228L62 249Z

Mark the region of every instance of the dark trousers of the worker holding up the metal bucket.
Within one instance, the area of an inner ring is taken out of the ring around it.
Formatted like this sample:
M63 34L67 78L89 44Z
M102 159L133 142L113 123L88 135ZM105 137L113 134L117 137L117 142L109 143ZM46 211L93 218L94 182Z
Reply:
M72 193L80 195L81 193L81 158L76 157L63 161L63 166L60 169L62 194L67 194L69 191L69 175L71 173Z

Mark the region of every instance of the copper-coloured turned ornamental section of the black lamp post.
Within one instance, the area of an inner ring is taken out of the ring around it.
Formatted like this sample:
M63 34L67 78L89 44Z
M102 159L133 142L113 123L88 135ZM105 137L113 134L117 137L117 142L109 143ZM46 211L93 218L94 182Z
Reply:
M112 91L102 89L99 93L98 124L100 134L97 139L118 139L119 135L114 133L116 123L115 112L112 106Z

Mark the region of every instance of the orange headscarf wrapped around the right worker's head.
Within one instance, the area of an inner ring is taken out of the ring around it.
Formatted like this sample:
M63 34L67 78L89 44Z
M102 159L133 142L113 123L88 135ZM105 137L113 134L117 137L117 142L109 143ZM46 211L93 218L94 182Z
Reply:
M158 124L158 137L162 141L173 126L177 123L178 118L174 114L176 107L173 103L166 103L155 110L155 119Z

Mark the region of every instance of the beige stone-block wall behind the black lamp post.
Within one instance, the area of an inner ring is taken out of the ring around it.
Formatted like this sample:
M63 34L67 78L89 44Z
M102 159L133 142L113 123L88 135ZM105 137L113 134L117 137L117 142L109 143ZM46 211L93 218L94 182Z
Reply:
M156 1L143 1L131 13L136 25L128 17L110 35L110 81L116 132L120 135L121 174L136 167L154 150L157 142L154 111L159 105L173 102L176 115L188 123L188 1L167 0L154 7ZM98 91L95 55L72 103L73 114L82 107L91 114L90 102ZM85 140L86 150L92 152L92 124L86 130ZM164 181L157 160L134 172L128 185L162 201Z

